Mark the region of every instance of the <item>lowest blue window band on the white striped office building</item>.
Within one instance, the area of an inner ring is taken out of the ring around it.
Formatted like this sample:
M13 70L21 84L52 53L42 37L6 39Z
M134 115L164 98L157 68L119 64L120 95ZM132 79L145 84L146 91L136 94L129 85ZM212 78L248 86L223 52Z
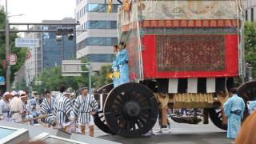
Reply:
M114 54L88 54L90 62L113 62Z

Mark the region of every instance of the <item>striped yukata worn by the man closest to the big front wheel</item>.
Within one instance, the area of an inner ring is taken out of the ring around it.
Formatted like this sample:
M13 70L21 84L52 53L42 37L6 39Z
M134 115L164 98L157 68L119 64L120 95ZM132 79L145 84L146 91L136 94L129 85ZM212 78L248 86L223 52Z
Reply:
M98 103L94 95L87 94L86 97L79 95L74 101L74 114L78 117L80 125L89 124L93 122L90 112L98 111Z

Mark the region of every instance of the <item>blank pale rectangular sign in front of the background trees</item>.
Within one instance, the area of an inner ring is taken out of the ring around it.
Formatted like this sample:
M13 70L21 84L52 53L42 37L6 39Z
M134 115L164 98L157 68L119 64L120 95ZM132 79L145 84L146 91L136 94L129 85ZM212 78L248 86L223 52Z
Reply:
M62 76L81 76L81 65L80 60L62 60Z

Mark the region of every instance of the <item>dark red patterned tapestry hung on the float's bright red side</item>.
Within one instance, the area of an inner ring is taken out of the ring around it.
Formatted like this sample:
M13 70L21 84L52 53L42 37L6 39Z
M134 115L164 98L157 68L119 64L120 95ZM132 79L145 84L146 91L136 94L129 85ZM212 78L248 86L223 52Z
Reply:
M223 35L158 36L158 71L225 70Z

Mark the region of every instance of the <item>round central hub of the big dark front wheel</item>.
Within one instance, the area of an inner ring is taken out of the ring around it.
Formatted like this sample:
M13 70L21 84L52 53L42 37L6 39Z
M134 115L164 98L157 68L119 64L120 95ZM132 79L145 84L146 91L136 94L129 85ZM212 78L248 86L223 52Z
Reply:
M141 106L139 106L138 102L130 101L126 102L123 113L126 118L135 118L141 112Z

